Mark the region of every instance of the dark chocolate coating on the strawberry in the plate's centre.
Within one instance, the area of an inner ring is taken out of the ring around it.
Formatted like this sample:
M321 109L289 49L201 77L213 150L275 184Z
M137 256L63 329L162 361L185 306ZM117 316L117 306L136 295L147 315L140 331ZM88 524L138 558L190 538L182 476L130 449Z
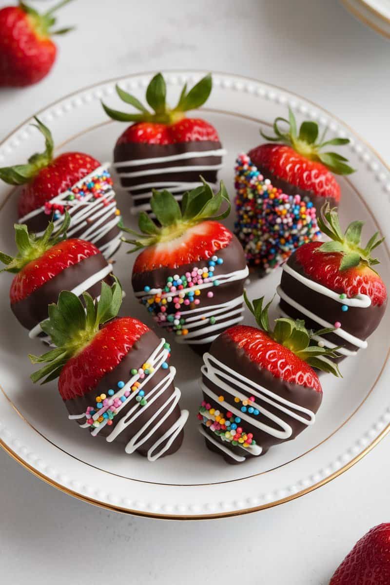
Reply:
M236 236L232 237L229 245L223 248L222 250L216 250L215 254L223 259L223 264L217 264L215 267L214 274L218 276L218 274L227 274L236 270L243 270L246 267L246 259L241 247L239 240L237 240ZM168 276L173 276L175 273L179 273L180 275L185 274L186 272L191 272L194 266L198 266L199 268L202 267L204 264L207 263L207 260L199 260L198 262L194 262L191 264L182 264L182 266L174 266L174 267L163 267L158 268L155 270L134 274L132 276L132 285L134 292L143 291L145 286L149 286L150 288L164 288L165 284L167 283ZM196 287L195 287L196 288ZM234 280L230 283L220 284L218 287L210 287L206 291L202 291L201 295L198 297L201 301L199 307L210 307L210 305L219 305L223 302L227 302L232 300L233 298L239 297L242 294L244 289L244 280ZM212 290L213 297L209 298L207 296L207 291ZM176 309L174 305L171 303L167 305L167 315L170 313L175 313ZM186 307L184 304L181 305L180 312L182 316L185 318L185 312L191 309L191 306L188 305ZM227 308L226 312L229 312L230 309ZM223 315L223 313L222 313ZM228 317L227 319L230 319ZM201 329L202 326L199 328L193 328L192 331L198 331ZM221 333L223 328L218 329L216 333ZM206 333L205 336L209 334ZM210 343L205 344L198 344L198 343L191 343L188 340L188 345L195 350L196 353L203 355L205 351L208 351L210 347Z

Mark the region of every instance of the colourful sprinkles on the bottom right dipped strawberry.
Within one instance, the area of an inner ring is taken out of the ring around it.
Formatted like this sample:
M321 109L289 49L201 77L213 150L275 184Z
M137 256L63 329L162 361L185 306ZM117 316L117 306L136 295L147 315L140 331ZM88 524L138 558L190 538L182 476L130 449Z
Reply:
M219 400L220 398L223 399L223 397L220 396ZM237 402L236 398L234 398L234 402ZM254 399L245 400L243 401L243 404L244 402L247 404L253 404ZM254 414L255 409L253 407L249 407L248 412L250 408L250 414ZM259 411L257 409L256 411L258 415ZM253 434L243 431L240 426L241 418L235 417L233 412L226 411L225 414L223 414L222 411L213 408L209 402L203 400L197 416L199 421L201 421L203 425L209 428L210 431L218 435L222 441L231 443L233 446L239 445L244 448L248 448L251 445L256 445Z

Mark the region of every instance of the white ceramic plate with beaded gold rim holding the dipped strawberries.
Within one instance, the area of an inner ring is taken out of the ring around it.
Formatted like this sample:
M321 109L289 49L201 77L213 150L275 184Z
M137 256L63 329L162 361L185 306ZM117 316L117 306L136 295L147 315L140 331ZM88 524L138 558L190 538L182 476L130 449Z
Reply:
M170 101L182 84L201 77L199 72L166 74ZM103 82L70 95L39 113L54 134L58 152L85 150L110 160L116 137L125 126L109 121L100 99L119 106L115 82L143 99L151 74L138 74ZM270 125L287 106L299 120L309 118L329 128L329 136L347 136L346 154L358 172L341 178L341 221L364 219L364 238L380 230L389 238L390 173L377 154L354 132L325 110L288 91L263 82L227 74L213 75L214 88L203 115L218 129L228 150L221 177L233 197L233 163L237 153L260 141L259 128ZM26 122L0 146L0 165L27 159L42 148L39 133ZM13 251L12 225L16 219L16 194L0 185L0 249ZM119 207L127 225L128 196L118 193ZM233 214L234 215L234 214ZM233 216L230 225L233 223ZM390 285L390 256L386 245L379 252L381 274ZM115 270L127 289L122 314L147 319L131 294L133 257L125 247L117 254ZM280 270L263 280L253 280L249 295L274 294ZM276 446L264 457L239 466L225 464L210 453L198 433L196 412L201 400L198 387L201 359L188 347L174 346L172 363L178 369L177 384L182 407L190 417L184 444L175 455L150 463L122 446L93 439L68 421L56 384L33 386L27 353L40 351L19 326L8 307L11 275L0 279L1 341L0 439L4 448L37 476L85 501L113 510L165 518L209 518L243 514L276 505L308 493L348 469L390 430L388 384L388 331L390 312L372 336L367 350L346 360L343 380L324 376L324 397L316 424L295 441ZM251 316L247 315L249 323ZM149 323L150 324L150 323Z

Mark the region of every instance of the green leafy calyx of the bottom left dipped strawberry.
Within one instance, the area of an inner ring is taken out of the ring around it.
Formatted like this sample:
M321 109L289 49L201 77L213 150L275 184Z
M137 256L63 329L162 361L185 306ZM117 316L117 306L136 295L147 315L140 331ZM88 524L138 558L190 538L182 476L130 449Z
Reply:
M88 292L83 292L85 307L80 298L70 291L61 291L58 302L48 307L49 318L40 325L50 335L55 349L41 356L29 355L33 364L46 363L40 370L31 374L35 383L44 378L42 384L57 378L65 363L87 346L101 325L118 315L122 304L122 286L118 278L110 287L102 282L99 300L92 299Z

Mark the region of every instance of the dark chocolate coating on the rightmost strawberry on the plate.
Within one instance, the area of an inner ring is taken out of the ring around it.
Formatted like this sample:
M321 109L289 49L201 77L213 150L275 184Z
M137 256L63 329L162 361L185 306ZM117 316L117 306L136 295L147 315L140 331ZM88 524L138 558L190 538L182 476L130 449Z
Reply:
M305 273L302 265L299 264L296 259L296 252L289 257L287 264L299 274L309 278L309 280L313 280L313 278ZM348 311L341 311L342 304L340 302L334 301L332 298L312 290L312 288L308 288L305 284L300 283L296 278L292 277L285 271L282 273L281 288L285 294L300 305L303 305L303 307L315 315L322 317L322 319L325 319L325 321L328 321L331 324L339 321L341 327L345 331L362 340L367 339L368 336L377 329L386 310L385 301L384 304L380 306L370 305L370 307L367 308L348 307ZM281 299L279 305L282 311L287 313L292 319L303 319L307 328L313 329L314 331L322 328L321 325L308 319L308 317L291 307L286 301ZM346 347L346 349L353 351L359 349L355 345L346 342L335 333L326 333L323 337L336 345Z

